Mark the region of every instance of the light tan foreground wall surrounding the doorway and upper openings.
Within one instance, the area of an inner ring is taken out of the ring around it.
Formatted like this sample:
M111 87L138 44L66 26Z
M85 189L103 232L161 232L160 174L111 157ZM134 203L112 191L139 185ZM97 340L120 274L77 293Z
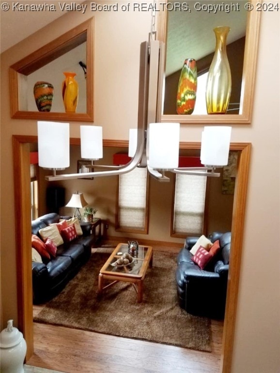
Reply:
M61 18L44 43L93 14ZM96 13L95 123L104 137L127 139L137 118L139 44L150 30L150 15ZM129 34L129 37L128 37ZM36 122L10 119L8 67L42 46L41 33L1 54L1 329L17 323L16 244L12 135L36 135ZM116 73L117 72L117 73ZM276 79L277 77L277 79ZM112 89L108 85L112 83ZM108 100L114 94L115 99ZM107 98L107 99L106 99ZM200 141L202 125L184 126L182 141ZM78 137L76 123L70 135ZM232 373L279 371L279 16L263 12L257 58L252 124L233 127L233 142L251 142ZM155 185L152 184L151 188ZM161 187L164 198L168 189ZM159 196L158 196L159 198ZM151 224L156 216L151 213ZM162 220L168 220L163 216Z

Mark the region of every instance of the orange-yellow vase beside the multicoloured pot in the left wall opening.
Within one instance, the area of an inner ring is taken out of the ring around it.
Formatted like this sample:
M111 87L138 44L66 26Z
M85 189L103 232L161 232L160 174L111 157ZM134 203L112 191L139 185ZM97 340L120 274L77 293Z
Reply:
M78 105L78 83L75 72L63 72L65 80L62 82L62 98L66 113L76 113Z

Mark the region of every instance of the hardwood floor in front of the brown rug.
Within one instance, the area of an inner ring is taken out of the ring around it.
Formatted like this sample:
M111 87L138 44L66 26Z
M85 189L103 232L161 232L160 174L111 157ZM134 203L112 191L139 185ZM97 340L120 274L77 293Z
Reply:
M40 306L33 307L34 314L39 310ZM64 373L218 373L222 333L223 322L213 320L212 352L207 353L34 323L34 355L26 362L26 369L33 366Z

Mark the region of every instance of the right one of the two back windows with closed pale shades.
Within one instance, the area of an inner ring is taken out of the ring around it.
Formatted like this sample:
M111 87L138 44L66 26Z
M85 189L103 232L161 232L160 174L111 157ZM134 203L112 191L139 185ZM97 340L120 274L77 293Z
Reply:
M176 175L172 235L201 235L203 232L206 176Z

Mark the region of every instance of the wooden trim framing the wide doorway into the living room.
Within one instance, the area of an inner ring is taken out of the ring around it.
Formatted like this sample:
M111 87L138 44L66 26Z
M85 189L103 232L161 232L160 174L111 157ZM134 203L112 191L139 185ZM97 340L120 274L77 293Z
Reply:
M37 136L13 135L15 227L16 227L16 271L17 271L17 314L18 327L27 343L26 359L33 355L33 315L31 276L31 224L30 224L30 158L29 143L36 143ZM71 138L70 144L78 145L79 139ZM199 149L200 143L185 143L188 149ZM104 140L104 146L128 146ZM181 146L181 144L180 144ZM182 143L184 147L184 143ZM249 178L250 143L232 143L232 151L240 151L233 198L232 239L226 313L223 329L221 356L222 373L230 373L233 355L236 306L238 300L240 263Z

